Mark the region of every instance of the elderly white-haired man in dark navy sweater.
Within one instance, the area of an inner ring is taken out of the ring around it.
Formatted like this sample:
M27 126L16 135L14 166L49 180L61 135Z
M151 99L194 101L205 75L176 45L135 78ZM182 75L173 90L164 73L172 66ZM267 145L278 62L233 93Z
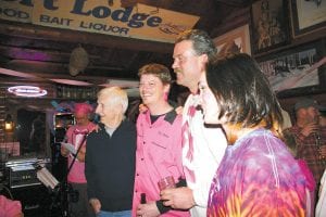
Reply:
M125 118L126 91L98 93L99 129L87 138L86 179L89 203L98 217L130 216L135 177L136 126Z

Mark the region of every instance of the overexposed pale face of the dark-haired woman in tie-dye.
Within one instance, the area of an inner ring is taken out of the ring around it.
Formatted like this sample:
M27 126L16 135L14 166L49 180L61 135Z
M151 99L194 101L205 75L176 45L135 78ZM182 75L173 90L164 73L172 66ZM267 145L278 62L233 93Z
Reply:
M218 104L214 93L209 88L206 76L204 74L200 77L198 88L200 91L200 102L203 108L204 123L221 124L221 122L218 120Z

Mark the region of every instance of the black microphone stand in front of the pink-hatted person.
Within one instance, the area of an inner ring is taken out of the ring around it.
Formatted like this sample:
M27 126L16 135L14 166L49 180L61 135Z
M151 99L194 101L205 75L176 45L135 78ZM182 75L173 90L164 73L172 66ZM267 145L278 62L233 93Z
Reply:
M87 135L84 136L84 138L80 142L80 145L78 146L78 149L76 151L76 154L73 154L73 156L74 156L73 161L70 164L70 166L66 170L66 174L61 181L61 184L59 184L60 206L61 206L61 213L62 213L63 217L71 216L70 210L68 210L68 200L67 200L68 193L70 193L70 184L67 182L67 176L68 176L70 171L72 170L72 168L76 162L77 155L78 155L84 142L86 141L86 139L87 139ZM57 201L57 200L54 199L54 201Z

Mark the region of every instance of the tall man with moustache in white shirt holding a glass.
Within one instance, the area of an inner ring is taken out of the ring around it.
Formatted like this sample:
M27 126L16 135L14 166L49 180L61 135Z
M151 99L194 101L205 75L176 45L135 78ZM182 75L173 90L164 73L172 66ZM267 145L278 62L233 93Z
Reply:
M227 145L221 128L205 127L202 112L198 108L198 82L205 73L206 63L216 55L216 48L202 30L192 29L176 40L172 65L177 84L188 87L183 114L183 164L187 187L161 192L164 205L173 208L190 208L191 216L206 215L209 191L213 176Z

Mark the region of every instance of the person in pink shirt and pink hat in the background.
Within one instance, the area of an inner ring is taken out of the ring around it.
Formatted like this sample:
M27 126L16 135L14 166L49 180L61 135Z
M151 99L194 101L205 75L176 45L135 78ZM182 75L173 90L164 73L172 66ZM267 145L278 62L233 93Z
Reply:
M91 105L87 103L75 104L75 120L76 125L70 127L66 131L66 141L79 149L76 161L68 173L67 181L74 190L79 192L79 200L76 203L70 203L72 213L78 217L88 217L92 215L92 210L88 203L87 184L85 178L85 153L86 153L86 137L95 129L95 124L89 120L89 115L92 112ZM61 154L68 157L68 167L73 162L74 156L64 146L61 146Z

